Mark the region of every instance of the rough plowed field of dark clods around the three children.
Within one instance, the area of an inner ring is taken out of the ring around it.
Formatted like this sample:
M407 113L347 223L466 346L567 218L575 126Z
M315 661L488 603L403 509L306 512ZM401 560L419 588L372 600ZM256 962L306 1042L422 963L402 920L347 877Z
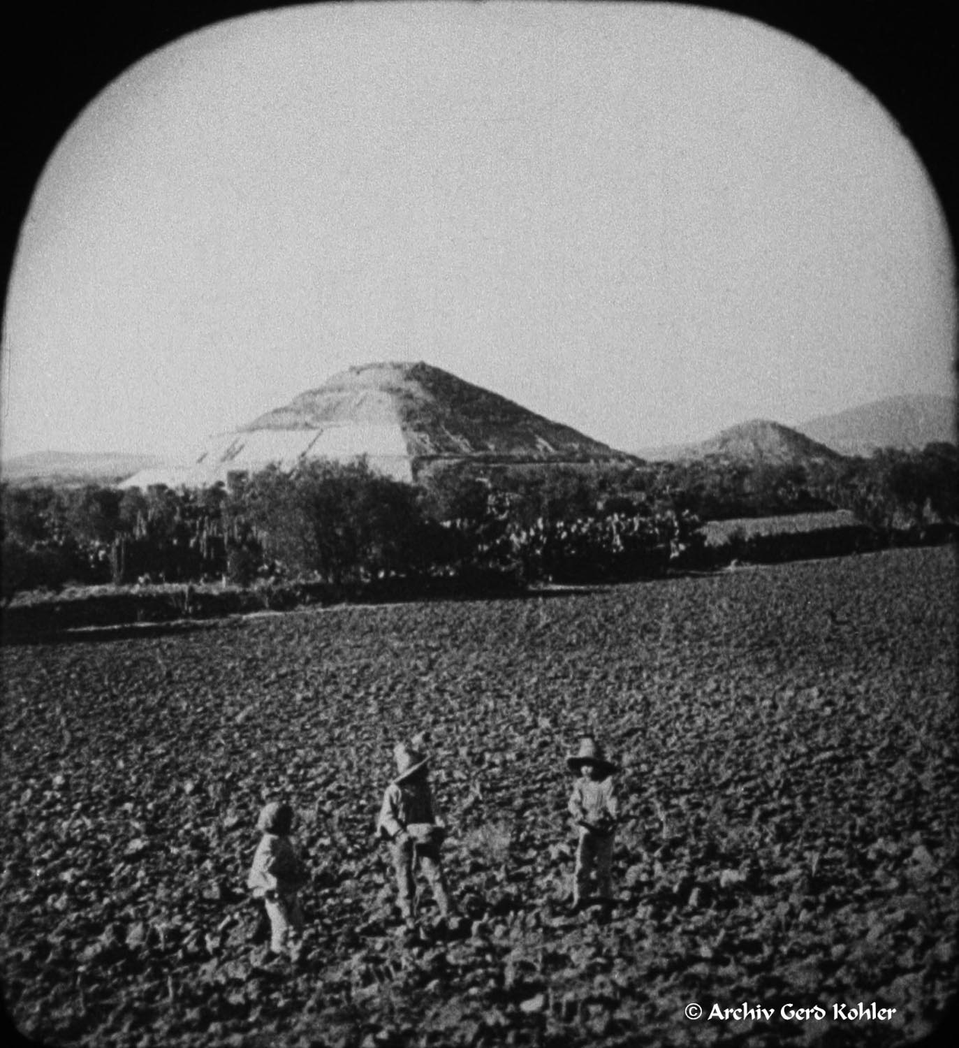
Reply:
M914 1041L956 984L954 589L900 550L7 647L6 1007L143 1048ZM373 824L423 728L465 920L437 939L427 894L410 946ZM566 912L586 729L624 765L607 924ZM277 792L312 880L270 970L243 896Z

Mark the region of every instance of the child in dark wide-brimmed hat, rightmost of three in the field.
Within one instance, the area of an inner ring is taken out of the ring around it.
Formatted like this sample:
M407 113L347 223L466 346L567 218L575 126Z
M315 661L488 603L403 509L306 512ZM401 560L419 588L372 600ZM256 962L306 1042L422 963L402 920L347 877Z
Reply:
M612 905L613 840L618 815L612 777L619 769L607 760L603 747L591 736L580 740L579 751L566 758L566 765L577 777L569 799L569 813L580 838L572 907L574 911L583 907L590 878L595 874L596 895L608 912Z

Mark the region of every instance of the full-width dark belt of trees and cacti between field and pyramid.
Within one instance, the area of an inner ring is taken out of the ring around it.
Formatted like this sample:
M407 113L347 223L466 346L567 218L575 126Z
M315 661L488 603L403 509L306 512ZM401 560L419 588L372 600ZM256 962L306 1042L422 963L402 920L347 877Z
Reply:
M697 531L706 519L842 507L871 529L872 548L946 536L959 522L957 476L956 447L930 444L806 466L491 465L440 472L418 486L364 462L323 461L228 489L4 486L2 594L220 577L241 586L258 577L626 581L671 563L715 564ZM769 559L758 545L753 552ZM749 553L740 543L726 555Z

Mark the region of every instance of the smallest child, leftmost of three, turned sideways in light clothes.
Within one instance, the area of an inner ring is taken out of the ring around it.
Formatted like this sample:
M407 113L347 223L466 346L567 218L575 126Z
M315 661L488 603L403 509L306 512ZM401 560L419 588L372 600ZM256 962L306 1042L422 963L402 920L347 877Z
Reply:
M263 899L271 930L269 952L278 957L291 945L303 929L300 889L306 876L289 831L293 825L293 809L278 801L267 804L257 820L263 834L254 855L246 883L255 898Z

